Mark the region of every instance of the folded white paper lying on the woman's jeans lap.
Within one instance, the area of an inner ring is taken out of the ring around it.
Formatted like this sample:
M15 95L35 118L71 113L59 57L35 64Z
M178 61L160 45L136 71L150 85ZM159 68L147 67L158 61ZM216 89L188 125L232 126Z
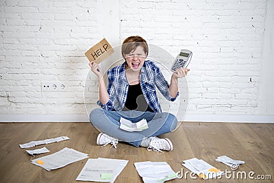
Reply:
M128 132L142 131L149 128L149 126L147 125L146 119L142 119L138 121L137 123L132 123L131 121L127 119L123 119L121 117L120 123L121 123L120 128Z

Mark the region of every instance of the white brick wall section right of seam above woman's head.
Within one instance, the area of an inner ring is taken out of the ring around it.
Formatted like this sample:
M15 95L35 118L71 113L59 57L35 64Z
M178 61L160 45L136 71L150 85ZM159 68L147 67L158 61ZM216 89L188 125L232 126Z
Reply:
M258 114L265 16L265 1L123 1L121 38L193 51L188 114Z

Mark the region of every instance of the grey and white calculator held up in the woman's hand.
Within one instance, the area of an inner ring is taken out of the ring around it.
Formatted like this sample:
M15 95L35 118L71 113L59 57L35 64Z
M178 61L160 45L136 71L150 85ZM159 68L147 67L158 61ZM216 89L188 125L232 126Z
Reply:
M188 49L181 49L178 56L175 58L172 66L171 71L175 72L176 69L184 67L186 68L192 58L192 51Z

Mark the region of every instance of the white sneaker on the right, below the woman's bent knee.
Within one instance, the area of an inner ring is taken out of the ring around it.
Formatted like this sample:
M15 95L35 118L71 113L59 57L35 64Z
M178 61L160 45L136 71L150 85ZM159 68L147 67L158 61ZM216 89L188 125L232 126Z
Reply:
M169 138L158 138L157 136L153 136L149 143L149 147L147 147L147 150L149 151L158 151L163 152L164 151L171 151L173 149L173 145Z

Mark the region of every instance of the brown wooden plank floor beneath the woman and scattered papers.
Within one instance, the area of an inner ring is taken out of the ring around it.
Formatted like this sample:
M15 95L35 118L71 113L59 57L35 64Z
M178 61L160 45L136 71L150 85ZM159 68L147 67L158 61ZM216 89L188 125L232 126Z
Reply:
M118 158L129 160L127 166L115 182L142 182L134 167L134 162L166 161L172 169L188 171L182 167L182 160L200 158L222 171L231 171L217 156L227 155L237 160L245 160L234 173L227 173L218 180L193 179L188 173L182 179L169 182L273 182L274 180L274 124L262 123L183 123L175 132L164 134L173 142L173 151L163 154L119 143L118 148L96 145L99 132L90 123L0 123L0 182L79 182L77 175L86 160L69 164L54 171L46 171L30 161L25 149L18 145L29 141L44 140L58 136L69 136L69 141L40 145L29 149L47 147L51 152L46 156L70 147L89 154L90 158ZM242 179L241 171L247 173ZM271 175L271 180L251 180L250 171L257 175ZM237 175L238 178L237 179ZM231 178L229 178L229 176Z

